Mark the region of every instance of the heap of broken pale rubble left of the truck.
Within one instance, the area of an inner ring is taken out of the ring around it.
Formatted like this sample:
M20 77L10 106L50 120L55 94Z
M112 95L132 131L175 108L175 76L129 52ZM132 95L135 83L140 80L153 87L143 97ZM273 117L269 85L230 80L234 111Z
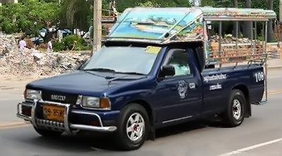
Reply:
M18 49L13 35L0 34L0 76L7 78L46 78L73 71L89 56L80 53L45 53Z

